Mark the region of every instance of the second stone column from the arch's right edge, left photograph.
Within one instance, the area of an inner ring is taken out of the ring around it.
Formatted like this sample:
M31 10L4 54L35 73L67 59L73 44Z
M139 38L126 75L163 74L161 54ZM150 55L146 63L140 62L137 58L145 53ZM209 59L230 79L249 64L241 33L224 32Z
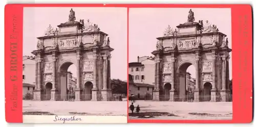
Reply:
M108 59L108 55L103 55L103 89L101 90L102 100L108 100L108 91L107 91L107 71L106 71L106 59Z

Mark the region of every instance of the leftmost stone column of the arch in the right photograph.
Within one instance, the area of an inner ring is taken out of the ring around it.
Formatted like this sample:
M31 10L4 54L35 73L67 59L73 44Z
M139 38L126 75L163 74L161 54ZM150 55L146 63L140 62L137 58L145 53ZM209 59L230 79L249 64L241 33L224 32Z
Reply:
M160 78L160 59L156 59L156 81L155 81L155 90L153 91L153 100L159 100L159 78Z

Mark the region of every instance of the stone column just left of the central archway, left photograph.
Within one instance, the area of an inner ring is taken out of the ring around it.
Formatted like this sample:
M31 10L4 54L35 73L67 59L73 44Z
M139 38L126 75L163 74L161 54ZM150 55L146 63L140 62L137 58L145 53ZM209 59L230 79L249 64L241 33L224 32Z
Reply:
M56 93L56 88L55 88L55 84L56 84L56 60L57 58L56 57L53 57L52 58L52 90L51 90L51 100L56 100L56 96L55 96L55 93Z

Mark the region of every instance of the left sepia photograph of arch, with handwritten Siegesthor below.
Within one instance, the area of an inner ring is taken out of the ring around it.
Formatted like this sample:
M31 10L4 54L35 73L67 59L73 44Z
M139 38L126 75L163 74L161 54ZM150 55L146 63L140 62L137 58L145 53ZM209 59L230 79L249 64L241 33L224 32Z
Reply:
M23 16L23 122L126 123L127 8Z

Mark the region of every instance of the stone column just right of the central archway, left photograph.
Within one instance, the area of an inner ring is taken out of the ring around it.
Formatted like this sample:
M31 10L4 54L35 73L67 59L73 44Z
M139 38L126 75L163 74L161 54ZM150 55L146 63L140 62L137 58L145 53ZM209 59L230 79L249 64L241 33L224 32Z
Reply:
M77 75L77 79L76 79L76 90L75 90L75 100L76 101L80 101L80 92L81 92L81 89L80 89L80 60L81 60L82 56L80 55L77 55L76 56L76 75Z

